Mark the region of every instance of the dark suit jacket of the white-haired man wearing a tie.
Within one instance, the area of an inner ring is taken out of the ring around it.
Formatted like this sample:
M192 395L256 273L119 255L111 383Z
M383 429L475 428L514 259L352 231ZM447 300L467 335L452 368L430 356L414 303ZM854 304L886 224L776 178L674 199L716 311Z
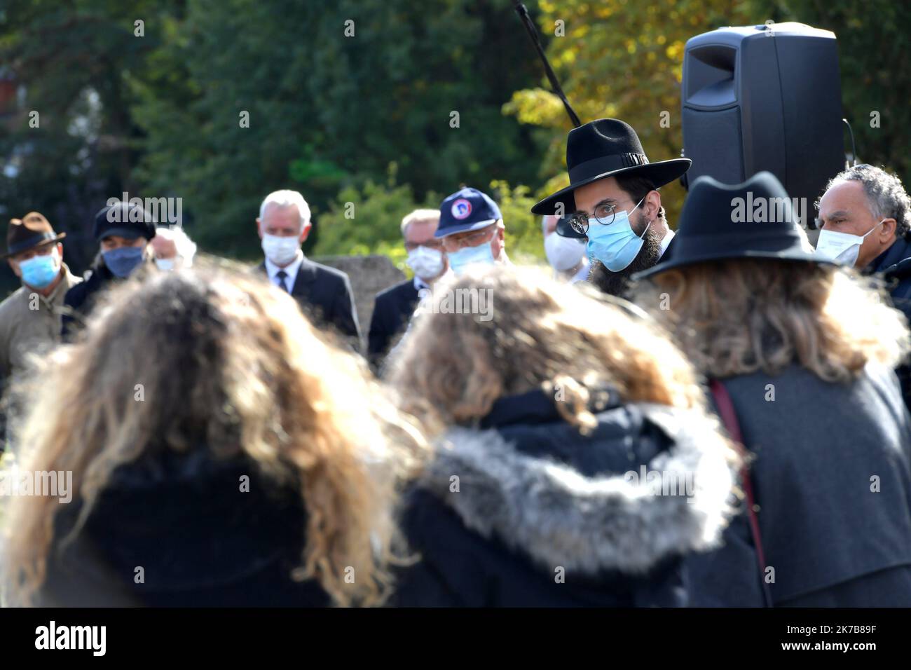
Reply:
M265 261L259 264L257 270L267 274ZM304 258L291 294L314 324L333 325L341 335L352 339L355 348L360 349L361 329L347 274Z

